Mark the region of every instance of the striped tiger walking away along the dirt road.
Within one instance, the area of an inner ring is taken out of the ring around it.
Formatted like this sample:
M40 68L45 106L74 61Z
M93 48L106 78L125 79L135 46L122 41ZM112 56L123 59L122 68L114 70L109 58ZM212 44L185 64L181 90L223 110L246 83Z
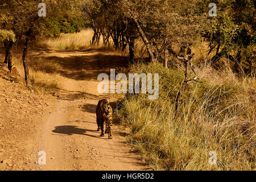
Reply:
M105 133L108 133L109 139L113 139L112 136L112 117L113 110L112 107L109 105L109 101L106 99L98 101L98 105L96 107L96 116L97 116L97 131L101 130L100 137L104 137ZM106 129L104 133L104 122L106 121Z

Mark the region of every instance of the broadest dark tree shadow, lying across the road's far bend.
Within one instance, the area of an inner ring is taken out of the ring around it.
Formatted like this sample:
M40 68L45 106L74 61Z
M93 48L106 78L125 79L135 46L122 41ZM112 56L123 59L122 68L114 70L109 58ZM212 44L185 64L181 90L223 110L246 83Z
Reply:
M58 52L63 52L65 54L64 57L55 54ZM72 53L77 52L78 51L49 51L46 52L47 54L49 53L49 55L46 55L46 53L38 53L31 56L31 59L36 61L36 58L41 57L49 63L58 64L61 67L59 70L61 75L74 80L97 80L99 72L109 75L110 68L115 68L116 72L118 72L121 68L128 67L127 57L104 55L102 53L86 55L88 51L79 51L80 53L84 52L85 55L72 55ZM52 56L51 53L53 53ZM44 71L44 69L42 71Z

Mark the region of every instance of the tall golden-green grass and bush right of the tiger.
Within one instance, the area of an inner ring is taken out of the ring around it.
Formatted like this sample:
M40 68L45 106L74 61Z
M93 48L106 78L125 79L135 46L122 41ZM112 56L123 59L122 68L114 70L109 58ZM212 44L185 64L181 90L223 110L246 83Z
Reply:
M159 98L127 95L115 115L130 128L127 142L157 170L255 170L256 81L232 73L208 73L191 82L175 119L174 101L183 72L161 64L137 64L131 72L159 73ZM216 71L215 71L216 72ZM217 80L213 81L215 77ZM216 151L211 165L209 152Z

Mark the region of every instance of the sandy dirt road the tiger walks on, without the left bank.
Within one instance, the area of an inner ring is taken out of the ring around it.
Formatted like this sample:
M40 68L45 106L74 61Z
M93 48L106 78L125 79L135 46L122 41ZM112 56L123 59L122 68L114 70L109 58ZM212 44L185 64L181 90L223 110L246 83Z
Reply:
M43 170L143 170L140 157L124 143L114 126L113 139L99 137L96 124L97 76L122 67L118 56L100 52L40 52L61 65L65 80L51 113L44 115L37 134L38 151L46 152ZM110 102L114 98L110 97Z

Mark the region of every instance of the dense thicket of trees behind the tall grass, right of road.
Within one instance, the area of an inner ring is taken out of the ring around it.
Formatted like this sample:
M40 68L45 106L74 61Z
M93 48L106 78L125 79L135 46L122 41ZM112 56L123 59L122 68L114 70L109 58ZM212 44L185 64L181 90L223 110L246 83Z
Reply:
M255 68L255 2L215 1L217 16L209 16L210 3L88 0L85 11L95 32L92 44L98 43L100 35L104 42L109 42L111 36L116 49L131 44L131 60L133 41L138 36L147 47L151 61L167 62L168 53L176 58L184 57L186 50L190 54L193 47L205 42L209 50L205 65L225 57L234 65L234 71L250 73ZM164 65L167 67L167 63Z

